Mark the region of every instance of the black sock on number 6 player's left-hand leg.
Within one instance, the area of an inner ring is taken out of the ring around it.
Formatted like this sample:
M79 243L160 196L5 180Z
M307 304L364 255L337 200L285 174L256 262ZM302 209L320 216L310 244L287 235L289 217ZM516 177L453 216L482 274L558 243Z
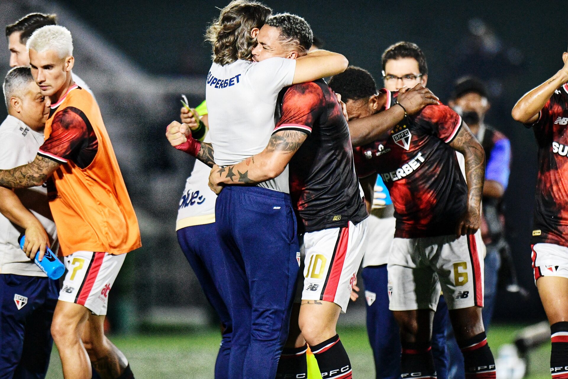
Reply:
M415 342L402 342L402 358L400 372L402 378L436 379L436 368L432 356L432 346Z

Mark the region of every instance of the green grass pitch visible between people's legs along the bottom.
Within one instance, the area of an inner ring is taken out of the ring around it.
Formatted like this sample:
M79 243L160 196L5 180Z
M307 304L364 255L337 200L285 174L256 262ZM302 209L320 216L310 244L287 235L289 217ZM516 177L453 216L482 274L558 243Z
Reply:
M488 340L495 355L500 345L511 342L519 329L512 325L491 327ZM373 379L373 356L365 329L343 328L339 334L349 352L354 377ZM220 341L219 332L213 329L181 335L114 336L111 340L126 354L137 379L211 379ZM548 344L531 355L529 379L550 378L549 352ZM54 347L47 378L62 377L61 362Z

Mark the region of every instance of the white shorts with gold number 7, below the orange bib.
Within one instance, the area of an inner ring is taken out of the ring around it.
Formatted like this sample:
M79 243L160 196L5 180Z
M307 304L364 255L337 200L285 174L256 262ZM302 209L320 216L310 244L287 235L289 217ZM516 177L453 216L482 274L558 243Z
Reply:
M85 306L95 315L106 315L110 291L126 254L77 251L64 257L67 273L59 299Z

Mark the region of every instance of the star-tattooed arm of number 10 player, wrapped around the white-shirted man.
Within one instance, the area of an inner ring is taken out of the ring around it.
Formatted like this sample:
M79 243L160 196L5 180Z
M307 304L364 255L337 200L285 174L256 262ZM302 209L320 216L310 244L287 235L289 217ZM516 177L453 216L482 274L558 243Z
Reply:
M209 176L209 186L219 193L223 185L254 185L274 179L283 172L306 138L304 132L296 130L276 132L268 141L268 146L257 155L236 165L214 166Z

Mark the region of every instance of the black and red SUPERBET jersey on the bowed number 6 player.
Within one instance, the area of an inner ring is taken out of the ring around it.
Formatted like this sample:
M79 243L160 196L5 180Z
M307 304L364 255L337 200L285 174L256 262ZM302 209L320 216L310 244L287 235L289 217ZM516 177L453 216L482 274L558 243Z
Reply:
M398 93L381 92L387 94L388 109ZM385 138L356 148L358 176L378 173L389 189L396 238L456 233L457 220L466 211L467 185L449 143L461 125L461 117L448 106L429 105Z

